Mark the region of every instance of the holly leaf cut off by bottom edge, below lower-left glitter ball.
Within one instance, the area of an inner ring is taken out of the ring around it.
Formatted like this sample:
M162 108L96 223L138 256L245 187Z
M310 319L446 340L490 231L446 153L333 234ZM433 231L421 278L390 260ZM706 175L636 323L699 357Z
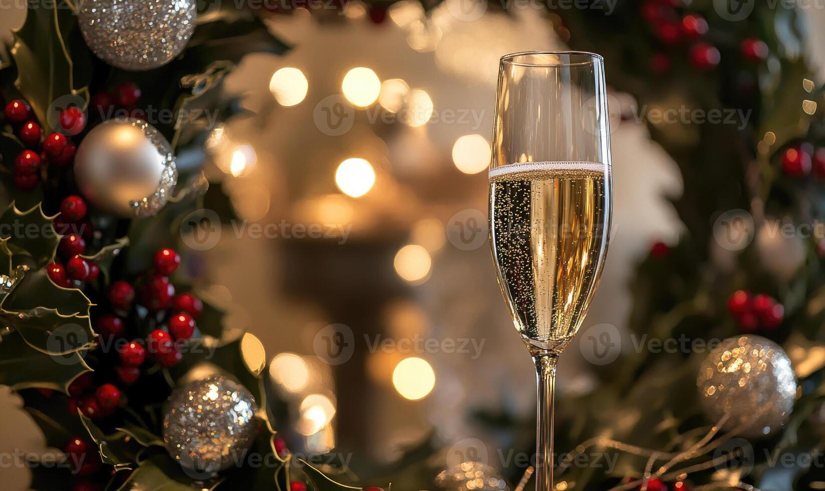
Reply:
M205 481L192 479L172 460L166 451L158 451L140 461L118 491L143 491L144 489L162 489L163 491L192 491L196 489L211 491L222 482L220 477Z

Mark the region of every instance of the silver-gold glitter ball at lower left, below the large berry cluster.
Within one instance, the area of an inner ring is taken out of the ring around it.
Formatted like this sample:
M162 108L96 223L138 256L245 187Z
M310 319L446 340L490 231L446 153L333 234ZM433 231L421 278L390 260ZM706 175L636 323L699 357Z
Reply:
M223 376L176 389L163 416L163 441L185 469L214 474L243 462L257 436L257 405L243 385Z

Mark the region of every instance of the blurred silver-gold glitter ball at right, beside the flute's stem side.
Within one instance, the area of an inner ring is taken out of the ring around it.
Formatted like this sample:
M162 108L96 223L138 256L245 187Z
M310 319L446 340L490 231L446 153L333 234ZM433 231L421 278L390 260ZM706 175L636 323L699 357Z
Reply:
M788 421L796 375L785 351L761 336L725 339L705 358L696 379L711 421L745 437L761 437Z

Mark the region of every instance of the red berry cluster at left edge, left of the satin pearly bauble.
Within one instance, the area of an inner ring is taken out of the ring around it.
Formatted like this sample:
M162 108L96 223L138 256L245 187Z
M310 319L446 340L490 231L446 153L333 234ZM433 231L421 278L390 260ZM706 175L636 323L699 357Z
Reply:
M43 129L35 120L31 107L20 99L9 102L6 120L15 128L17 138L26 146L14 159L14 184L21 191L31 191L42 176L46 162L68 167L74 162L77 147L63 133L52 133L43 138ZM86 126L86 115L76 106L60 113L60 126L67 135L77 135Z

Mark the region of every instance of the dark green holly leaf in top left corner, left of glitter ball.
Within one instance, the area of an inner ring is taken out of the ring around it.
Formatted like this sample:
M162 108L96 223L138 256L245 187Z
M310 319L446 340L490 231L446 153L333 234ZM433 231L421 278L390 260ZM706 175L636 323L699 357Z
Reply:
M14 32L12 59L17 67L15 86L35 111L46 132L49 106L58 97L74 95L87 99L91 70L75 73L72 55L88 58L78 44L78 20L71 9L58 2L44 4L28 0L26 22ZM88 60L82 60L84 66ZM82 73L82 74L81 74Z

